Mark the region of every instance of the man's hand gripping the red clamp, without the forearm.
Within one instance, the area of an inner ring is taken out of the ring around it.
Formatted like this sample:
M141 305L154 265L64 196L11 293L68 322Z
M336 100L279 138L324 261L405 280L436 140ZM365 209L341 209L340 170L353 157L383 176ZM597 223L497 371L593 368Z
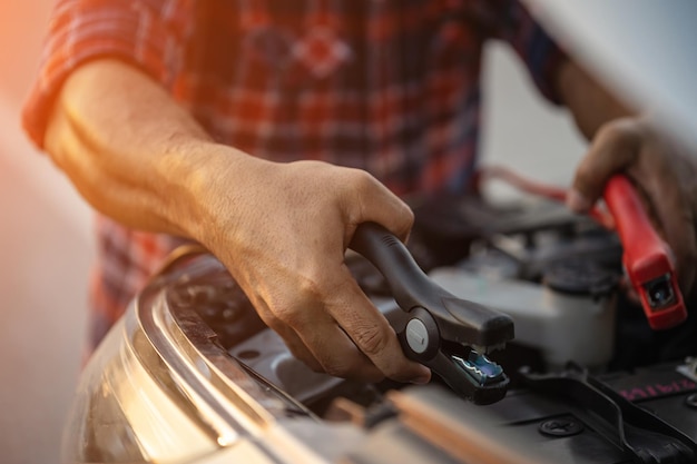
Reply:
M654 226L675 255L681 290L689 295L697 278L696 158L646 118L612 120L598 129L582 158L568 206L588 211L616 172L635 184Z

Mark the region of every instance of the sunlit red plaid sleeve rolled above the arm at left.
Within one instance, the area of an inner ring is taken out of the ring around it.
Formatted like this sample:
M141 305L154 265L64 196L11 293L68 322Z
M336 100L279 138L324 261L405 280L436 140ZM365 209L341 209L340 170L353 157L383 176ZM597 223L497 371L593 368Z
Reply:
M35 144L43 136L53 100L68 75L99 57L128 61L170 83L181 61L192 0L58 0L38 79L22 109Z

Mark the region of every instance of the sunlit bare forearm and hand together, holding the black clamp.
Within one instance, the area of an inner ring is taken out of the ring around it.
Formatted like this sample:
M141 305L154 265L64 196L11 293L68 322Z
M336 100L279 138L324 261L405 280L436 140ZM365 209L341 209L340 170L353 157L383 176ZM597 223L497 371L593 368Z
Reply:
M359 224L403 238L413 220L365 171L216 145L156 82L115 61L73 72L46 147L96 208L203 244L308 365L371 382L430 377L344 263Z

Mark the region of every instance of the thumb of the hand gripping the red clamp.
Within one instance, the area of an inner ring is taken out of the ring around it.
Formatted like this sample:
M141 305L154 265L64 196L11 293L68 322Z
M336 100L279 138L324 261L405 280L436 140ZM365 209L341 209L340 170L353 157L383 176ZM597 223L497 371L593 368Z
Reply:
M613 120L600 128L576 169L566 199L569 209L587 213L602 196L608 179L636 161L639 147L640 135L631 119Z

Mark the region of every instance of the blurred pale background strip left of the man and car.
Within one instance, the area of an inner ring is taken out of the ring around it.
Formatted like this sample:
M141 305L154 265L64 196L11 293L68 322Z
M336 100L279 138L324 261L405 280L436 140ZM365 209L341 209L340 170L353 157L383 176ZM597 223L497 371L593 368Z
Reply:
M9 464L58 462L94 255L89 208L19 124L51 4L0 2L0 461Z

